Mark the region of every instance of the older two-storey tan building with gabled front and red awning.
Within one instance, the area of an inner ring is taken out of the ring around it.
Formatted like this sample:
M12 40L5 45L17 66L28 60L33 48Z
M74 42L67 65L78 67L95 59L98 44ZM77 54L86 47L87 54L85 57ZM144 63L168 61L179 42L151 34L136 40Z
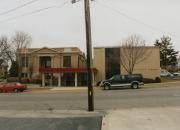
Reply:
M42 86L87 84L85 55L76 47L19 49L17 56L22 78L41 78Z

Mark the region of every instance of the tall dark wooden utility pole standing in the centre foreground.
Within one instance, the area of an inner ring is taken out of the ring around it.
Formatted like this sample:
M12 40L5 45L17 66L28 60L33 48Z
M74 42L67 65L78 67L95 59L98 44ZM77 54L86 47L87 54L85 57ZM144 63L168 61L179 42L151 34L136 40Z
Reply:
M84 0L85 26L86 26L86 52L88 70L88 111L94 111L94 90L92 85L92 41L89 0Z

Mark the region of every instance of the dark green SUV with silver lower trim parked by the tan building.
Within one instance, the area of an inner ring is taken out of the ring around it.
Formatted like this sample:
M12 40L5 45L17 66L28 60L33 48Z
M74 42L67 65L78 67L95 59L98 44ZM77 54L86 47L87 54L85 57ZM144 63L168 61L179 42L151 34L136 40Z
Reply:
M138 89L140 85L144 85L141 74L114 75L110 79L101 81L100 83L100 86L103 87L104 90L125 86Z

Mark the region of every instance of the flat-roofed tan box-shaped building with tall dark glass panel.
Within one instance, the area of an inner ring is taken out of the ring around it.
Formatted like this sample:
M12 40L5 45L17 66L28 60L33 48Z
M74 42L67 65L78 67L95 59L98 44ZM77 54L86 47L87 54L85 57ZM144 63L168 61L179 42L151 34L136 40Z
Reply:
M120 58L124 55L122 47L95 47L94 67L98 70L97 81L110 78L114 74L127 74ZM140 73L144 78L160 77L160 52L158 47L144 47L147 56L135 65L133 73Z

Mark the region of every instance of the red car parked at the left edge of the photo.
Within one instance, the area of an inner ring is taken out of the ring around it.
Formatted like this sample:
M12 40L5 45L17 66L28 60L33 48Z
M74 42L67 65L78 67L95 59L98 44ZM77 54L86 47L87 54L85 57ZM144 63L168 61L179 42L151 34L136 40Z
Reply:
M11 82L11 83L0 83L0 92L23 92L27 89L26 85Z

